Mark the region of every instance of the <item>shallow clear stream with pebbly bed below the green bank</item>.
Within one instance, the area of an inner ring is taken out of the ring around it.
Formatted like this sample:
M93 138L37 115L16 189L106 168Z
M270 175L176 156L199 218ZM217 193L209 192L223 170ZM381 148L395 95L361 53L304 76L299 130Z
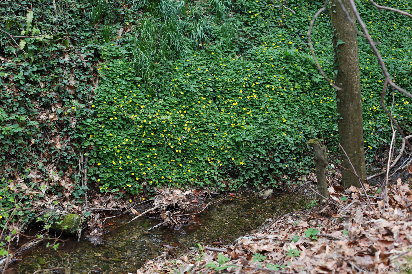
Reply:
M44 269L41 273L136 273L145 260L155 258L171 247L173 254L179 255L197 243L231 243L258 229L268 218L281 214L294 197L293 194L279 195L263 201L253 195L243 195L246 200L227 197L211 205L205 214L194 218L189 216L189 225L175 229L156 228L149 234L147 229L159 223L158 220L143 218L115 229L133 218L116 217L108 221L114 224L107 225L110 232L105 235L103 245L94 246L87 240L79 243L70 240L54 251L51 247L46 247L46 243L42 243L29 252L22 253L22 260L14 262L12 272L9 273L33 273L40 269ZM199 208L202 207L202 202L206 205L211 201L201 201ZM300 210L304 204L304 197L297 197L289 211ZM46 270L56 267L61 268Z

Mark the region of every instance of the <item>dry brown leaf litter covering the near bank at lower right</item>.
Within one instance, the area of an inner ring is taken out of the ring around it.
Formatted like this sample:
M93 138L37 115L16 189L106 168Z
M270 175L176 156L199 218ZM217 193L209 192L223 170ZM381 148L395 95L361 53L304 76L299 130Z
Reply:
M386 194L364 187L370 202L359 188L331 186L332 203L276 217L270 227L227 246L180 255L164 251L136 273L410 273L410 181L398 179Z

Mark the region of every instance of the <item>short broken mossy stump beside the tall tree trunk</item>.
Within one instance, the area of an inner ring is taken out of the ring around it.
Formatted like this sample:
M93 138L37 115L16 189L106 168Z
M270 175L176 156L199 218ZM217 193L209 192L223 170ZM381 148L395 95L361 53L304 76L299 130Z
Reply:
M308 145L313 148L316 162L316 177L318 179L318 198L323 201L328 199L328 182L326 181L326 167L328 166L328 158L326 157L325 147L319 142L319 139L311 139Z

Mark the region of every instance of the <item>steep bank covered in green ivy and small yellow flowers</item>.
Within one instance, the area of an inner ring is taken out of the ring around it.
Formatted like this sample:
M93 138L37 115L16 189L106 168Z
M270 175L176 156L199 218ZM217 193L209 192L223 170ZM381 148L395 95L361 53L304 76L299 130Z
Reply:
M410 88L407 19L357 3L391 75ZM28 221L33 204L81 203L87 189L122 196L150 186L285 186L311 167L309 139L336 151L335 94L307 46L323 4L281 4L3 3L3 220ZM332 76L328 14L312 39ZM379 107L384 78L359 43L365 149L373 156L391 132ZM408 130L408 99L394 94L393 112Z

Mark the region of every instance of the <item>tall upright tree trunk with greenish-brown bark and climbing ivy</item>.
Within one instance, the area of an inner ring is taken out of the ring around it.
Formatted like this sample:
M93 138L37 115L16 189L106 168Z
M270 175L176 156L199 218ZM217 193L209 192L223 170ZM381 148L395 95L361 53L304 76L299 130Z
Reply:
M349 12L352 22L356 22L349 0L341 0L341 2ZM338 119L340 143L353 167L355 167L358 176L365 180L357 33L339 5L338 0L331 1L330 14L335 50L335 85L342 88L342 90L336 91L337 113L340 115ZM342 157L342 166L352 171L352 167L345 156ZM345 188L351 185L360 187L358 178L350 171L342 169L342 185Z

